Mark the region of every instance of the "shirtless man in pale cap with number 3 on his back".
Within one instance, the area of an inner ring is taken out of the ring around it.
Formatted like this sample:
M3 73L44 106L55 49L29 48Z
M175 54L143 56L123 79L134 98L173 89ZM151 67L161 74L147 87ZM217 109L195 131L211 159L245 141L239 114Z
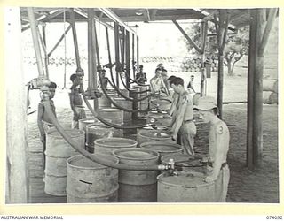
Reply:
M225 122L217 117L217 103L214 97L203 96L193 109L199 110L200 118L210 124L209 129L209 176L206 182L217 181L217 202L225 202L230 170L226 163L230 133ZM220 181L219 181L220 180Z

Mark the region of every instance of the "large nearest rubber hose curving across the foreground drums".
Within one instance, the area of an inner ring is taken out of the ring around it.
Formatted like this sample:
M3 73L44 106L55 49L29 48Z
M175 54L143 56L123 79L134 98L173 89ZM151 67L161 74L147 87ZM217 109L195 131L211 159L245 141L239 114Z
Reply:
M119 170L130 170L130 171L159 171L163 170L162 167L164 165L131 165L131 164L115 164L112 161L102 159L99 156L96 156L96 154L91 154L85 149L79 148L79 144L73 140L63 129L62 126L59 125L59 122L57 118L55 118L54 114L51 110L51 104L49 101L45 101L43 103L44 109L47 112L47 116L51 119L51 123L56 127L56 129L59 131L59 133L62 135L62 137L69 143L75 150L77 150L80 154L83 156L86 156L87 158L91 159L91 161L97 162L98 164L102 164L105 166L113 167L115 169Z

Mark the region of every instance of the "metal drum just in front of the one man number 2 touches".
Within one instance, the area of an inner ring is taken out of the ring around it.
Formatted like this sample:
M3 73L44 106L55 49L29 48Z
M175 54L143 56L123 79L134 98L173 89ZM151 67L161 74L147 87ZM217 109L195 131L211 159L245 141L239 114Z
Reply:
M140 144L141 149L151 149L159 153L160 160L162 156L174 153L182 153L183 147L177 143L168 143L164 141L149 141ZM159 162L160 163L160 162Z

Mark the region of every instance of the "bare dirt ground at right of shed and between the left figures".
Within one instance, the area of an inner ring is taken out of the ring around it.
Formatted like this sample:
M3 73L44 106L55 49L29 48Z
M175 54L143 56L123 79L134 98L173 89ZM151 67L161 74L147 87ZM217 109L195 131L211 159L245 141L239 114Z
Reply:
M216 79L211 81L215 82ZM233 77L226 79L226 82L234 83L225 84L225 97L230 98L228 92L232 91L232 87L234 87L233 92L235 93L231 93L231 95L233 94L231 99L225 100L243 101L246 98L246 89L242 89L246 88L246 78ZM215 91L215 88L210 91ZM35 97L37 96L35 95ZM35 104L35 102L34 99L33 103ZM72 114L68 104L67 90L58 89L55 105L59 122L71 126ZM227 202L279 202L278 105L264 104L263 165L255 171L248 171L246 167L247 103L224 104L223 109L223 118L231 133L227 159L231 170L231 179ZM38 154L42 145L38 139L36 113L28 116L28 141L31 154ZM30 167L36 169L34 164L30 164Z

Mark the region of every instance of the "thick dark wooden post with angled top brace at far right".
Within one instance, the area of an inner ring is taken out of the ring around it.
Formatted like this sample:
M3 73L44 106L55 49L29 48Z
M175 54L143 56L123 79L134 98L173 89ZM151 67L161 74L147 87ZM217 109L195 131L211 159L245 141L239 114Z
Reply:
M264 50L277 12L273 9L268 11L266 23L266 9L250 10L247 136L247 164L250 170L262 165Z

